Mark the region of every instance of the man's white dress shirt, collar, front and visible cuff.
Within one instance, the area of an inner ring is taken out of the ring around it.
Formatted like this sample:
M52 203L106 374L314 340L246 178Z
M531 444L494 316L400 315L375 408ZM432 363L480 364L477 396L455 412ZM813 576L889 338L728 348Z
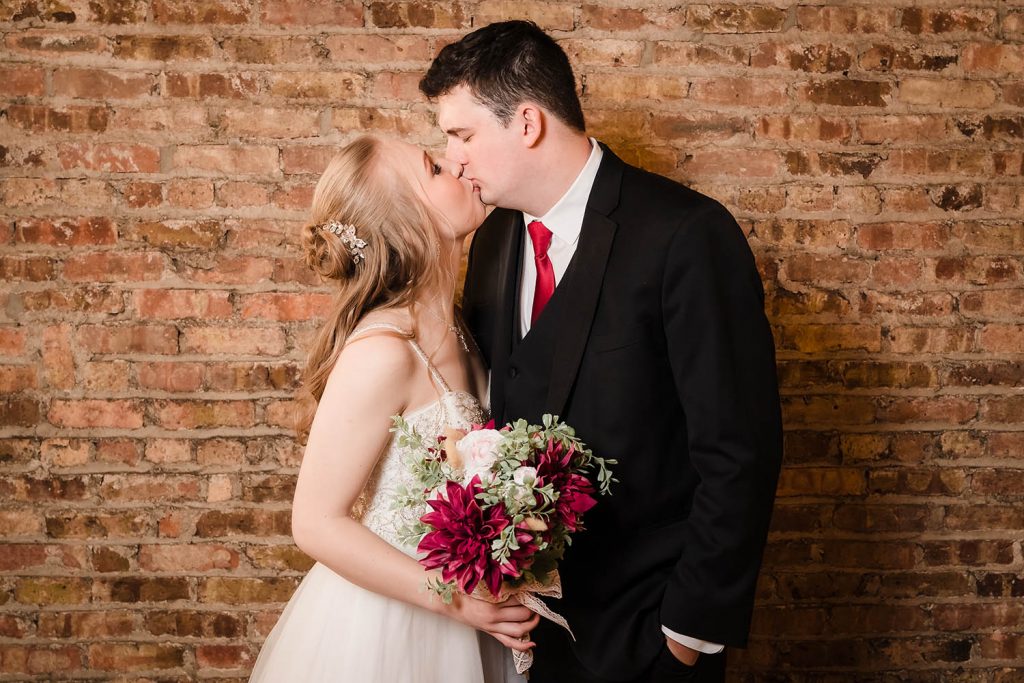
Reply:
M544 216L530 216L525 211L522 219L525 225L539 220L544 226L551 230L551 247L548 248L548 258L551 260L551 267L555 271L555 287L562 281L565 269L568 268L572 255L575 254L577 245L580 242L580 230L583 228L583 217L587 210L587 201L590 199L590 190L594 187L594 179L597 177L597 169L601 166L601 158L604 153L601 145L593 137L590 138L591 152L590 159L580 171L580 175L572 181L561 199L555 202L555 206ZM529 231L523 230L523 258L522 273L519 279L519 330L521 336L525 337L530 328L530 316L534 312L534 291L537 288L537 264L534 262L534 242L529 239ZM715 654L721 652L725 645L709 643L697 638L690 638L676 633L666 627L662 627L665 635L678 643L685 645L698 652Z

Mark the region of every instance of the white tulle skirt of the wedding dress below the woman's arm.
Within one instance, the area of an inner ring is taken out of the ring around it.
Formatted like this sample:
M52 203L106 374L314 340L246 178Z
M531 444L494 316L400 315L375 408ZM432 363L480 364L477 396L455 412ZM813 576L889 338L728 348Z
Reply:
M362 589L316 563L260 650L256 683L520 683L485 633Z

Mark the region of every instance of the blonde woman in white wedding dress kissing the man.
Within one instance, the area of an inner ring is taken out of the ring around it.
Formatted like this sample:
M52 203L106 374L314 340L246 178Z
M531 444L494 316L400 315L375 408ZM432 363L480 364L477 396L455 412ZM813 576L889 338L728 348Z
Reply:
M523 680L507 648L534 646L538 616L512 600L444 604L397 533L425 510L392 507L407 473L391 416L431 434L485 417L486 374L453 304L464 238L483 217L458 165L397 140L360 137L321 177L303 247L338 294L304 376L317 404L292 509L316 562L251 681Z

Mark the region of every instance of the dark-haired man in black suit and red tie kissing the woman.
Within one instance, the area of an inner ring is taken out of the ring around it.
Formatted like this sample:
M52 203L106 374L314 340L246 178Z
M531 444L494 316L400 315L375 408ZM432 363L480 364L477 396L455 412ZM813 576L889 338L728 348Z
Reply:
M589 138L536 25L444 47L420 83L447 157L498 207L463 309L496 421L560 415L620 482L561 565L530 683L722 681L743 646L781 459L774 346L743 233L718 203Z

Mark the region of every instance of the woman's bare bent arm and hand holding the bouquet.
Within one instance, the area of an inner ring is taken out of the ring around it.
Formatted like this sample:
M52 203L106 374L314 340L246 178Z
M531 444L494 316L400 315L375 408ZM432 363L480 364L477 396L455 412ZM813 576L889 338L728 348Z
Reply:
M292 535L307 555L348 581L381 595L446 614L486 631L516 649L537 625L532 612L458 597L445 605L424 590L429 574L351 517L352 506L390 440L391 416L425 372L408 342L379 335L349 344L321 397L299 468Z

